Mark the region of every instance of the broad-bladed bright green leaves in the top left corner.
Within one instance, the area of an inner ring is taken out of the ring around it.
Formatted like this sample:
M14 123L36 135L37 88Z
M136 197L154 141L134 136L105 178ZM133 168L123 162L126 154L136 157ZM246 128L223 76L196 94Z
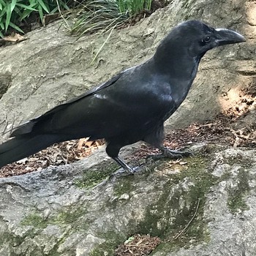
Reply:
M7 29L13 29L23 33L18 24L29 18L32 12L37 12L43 23L45 14L69 10L68 0L0 0L0 37Z

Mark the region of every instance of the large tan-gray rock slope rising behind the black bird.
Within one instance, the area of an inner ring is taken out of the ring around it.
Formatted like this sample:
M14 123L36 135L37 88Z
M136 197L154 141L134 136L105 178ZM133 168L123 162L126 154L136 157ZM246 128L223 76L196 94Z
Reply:
M91 61L108 35L76 41L59 23L31 31L26 41L0 50L0 131L140 64L173 26L192 18L236 29L247 39L246 44L206 54L189 97L167 124L181 127L211 118L230 108L241 88L255 84L255 5L249 0L174 0L135 26L113 31L94 64Z

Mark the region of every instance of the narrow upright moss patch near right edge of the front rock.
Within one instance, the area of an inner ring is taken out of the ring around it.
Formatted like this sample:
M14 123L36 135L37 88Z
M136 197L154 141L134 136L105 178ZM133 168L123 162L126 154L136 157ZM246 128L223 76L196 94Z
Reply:
M245 211L249 209L244 200L244 195L249 191L249 174L244 168L241 168L237 178L236 187L232 187L228 191L227 206L233 214L236 214L239 210Z

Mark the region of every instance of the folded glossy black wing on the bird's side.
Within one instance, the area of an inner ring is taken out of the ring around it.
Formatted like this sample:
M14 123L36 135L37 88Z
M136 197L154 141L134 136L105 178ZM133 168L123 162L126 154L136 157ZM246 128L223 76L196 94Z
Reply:
M146 65L134 67L31 120L12 135L33 131L75 139L145 133L173 111L170 95L170 84L163 78Z

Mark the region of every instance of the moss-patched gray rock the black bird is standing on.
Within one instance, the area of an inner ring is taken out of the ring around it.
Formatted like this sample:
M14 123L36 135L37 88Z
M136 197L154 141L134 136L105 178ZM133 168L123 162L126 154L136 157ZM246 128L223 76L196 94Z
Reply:
M74 165L1 178L0 255L113 255L134 233L162 238L156 256L255 255L256 150L191 150L186 165L165 160L105 181L116 165L104 148Z

